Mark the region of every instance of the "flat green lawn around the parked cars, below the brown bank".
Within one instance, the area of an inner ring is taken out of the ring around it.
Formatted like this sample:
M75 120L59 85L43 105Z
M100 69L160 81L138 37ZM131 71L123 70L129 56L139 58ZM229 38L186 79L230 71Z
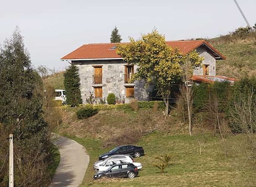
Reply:
M256 165L245 147L244 135L229 136L225 141L210 134L168 135L152 133L137 145L143 146L145 156L135 159L142 162L139 176L128 178L103 178L93 181L93 162L109 149L101 142L87 138L70 137L81 143L90 154L90 164L83 181L85 186L255 186ZM201 150L201 154L200 154ZM153 167L155 157L172 154L171 165L160 173Z

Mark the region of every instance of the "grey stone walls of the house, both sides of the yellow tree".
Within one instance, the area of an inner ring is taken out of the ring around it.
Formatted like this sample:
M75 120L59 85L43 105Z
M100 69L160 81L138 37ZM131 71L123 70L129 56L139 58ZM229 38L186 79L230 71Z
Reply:
M194 70L195 75L204 75L207 67L207 74L210 76L216 75L216 60L212 57L205 47L198 47L197 52L204 58L202 65ZM144 81L135 81L133 84L125 83L126 74L125 67L127 63L120 59L114 60L78 60L72 61L73 65L79 68L80 76L80 91L83 103L87 103L88 98L93 97L94 103L106 102L108 94L113 93L117 98L125 103L129 103L133 98L147 101L151 87L145 88ZM205 67L203 67L205 66ZM93 84L93 76L95 67L102 69L101 84ZM134 66L136 73L138 66ZM134 97L127 97L127 88L134 87ZM95 89L102 88L102 98L95 98Z

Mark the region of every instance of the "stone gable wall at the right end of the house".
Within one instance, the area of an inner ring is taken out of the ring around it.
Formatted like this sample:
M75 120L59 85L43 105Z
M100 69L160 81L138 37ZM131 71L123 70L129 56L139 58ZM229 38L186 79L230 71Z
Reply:
M200 55L200 57L203 57L204 60L202 62L202 65L198 68L195 68L194 74L197 75L203 75L203 65L209 65L208 66L208 75L215 76L216 75L216 60L213 58L205 49L205 47L198 47L197 52Z

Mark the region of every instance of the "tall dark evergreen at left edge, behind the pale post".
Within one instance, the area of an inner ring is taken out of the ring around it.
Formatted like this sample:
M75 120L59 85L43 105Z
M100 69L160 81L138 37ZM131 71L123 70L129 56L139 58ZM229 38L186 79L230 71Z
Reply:
M0 159L8 152L6 138L13 133L15 186L46 186L51 144L42 117L43 84L18 29L1 48L0 80L0 139L5 148L0 149ZM8 164L0 173L0 186L7 186Z

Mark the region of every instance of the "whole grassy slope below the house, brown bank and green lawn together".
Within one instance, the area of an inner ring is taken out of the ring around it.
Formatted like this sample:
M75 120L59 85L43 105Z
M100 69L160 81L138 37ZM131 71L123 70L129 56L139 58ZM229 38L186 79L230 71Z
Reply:
M63 123L58 132L85 146L90 155L90 164L81 187L255 185L256 164L255 159L250 157L245 135L226 134L223 141L211 130L203 130L195 125L194 135L189 137L187 125L177 121L175 110L166 122L161 111L153 109L107 110L83 120L75 117L76 109L66 108L62 111ZM143 146L146 154L135 159L143 164L139 177L133 180L93 180L93 162L115 146L113 140L120 145L130 143L130 138L137 139L136 133L145 130L143 127L158 130L144 133L134 143ZM120 136L122 141L117 138ZM173 155L165 173L160 173L153 166L155 157L160 154Z

